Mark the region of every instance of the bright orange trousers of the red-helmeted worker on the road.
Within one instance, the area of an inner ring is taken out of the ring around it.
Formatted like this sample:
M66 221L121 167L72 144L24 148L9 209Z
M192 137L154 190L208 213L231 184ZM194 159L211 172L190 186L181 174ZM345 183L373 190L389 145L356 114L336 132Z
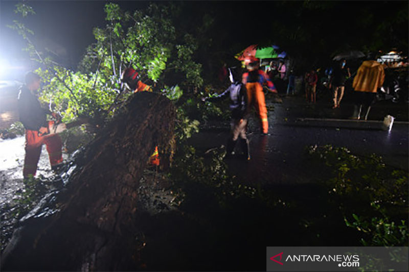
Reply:
M263 133L268 132L267 108L265 107L265 98L263 87L260 83L246 83L248 106L254 107L261 120Z

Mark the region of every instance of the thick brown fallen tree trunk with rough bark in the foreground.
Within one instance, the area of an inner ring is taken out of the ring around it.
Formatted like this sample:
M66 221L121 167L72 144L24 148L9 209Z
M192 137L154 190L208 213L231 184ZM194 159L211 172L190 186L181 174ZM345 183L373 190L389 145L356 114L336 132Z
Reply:
M13 234L2 270L134 270L137 189L149 156L173 137L175 109L164 96L135 94Z

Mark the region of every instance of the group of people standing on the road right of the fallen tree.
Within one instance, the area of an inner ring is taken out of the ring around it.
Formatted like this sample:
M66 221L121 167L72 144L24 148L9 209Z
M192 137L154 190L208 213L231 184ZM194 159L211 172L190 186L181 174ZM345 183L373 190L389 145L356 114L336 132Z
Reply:
M232 85L221 94L215 94L212 98L203 98L203 101L216 101L222 97L230 97L232 110L231 137L228 140L227 152L232 154L237 139L240 137L243 152L249 159L249 145L246 138L246 125L249 109L255 108L261 123L261 134L268 132L267 110L262 85L267 84L270 91L293 95L296 92L296 76L292 69L288 69L284 60L278 65L270 62L269 65L260 69L260 60L244 60L247 71L243 73L242 82L237 79L236 72L229 68ZM392 67L392 66L388 66ZM404 67L400 65L399 67ZM362 61L356 72L351 74L351 68L347 60L342 59L334 63L333 67L325 70L311 68L306 71L302 78L304 82L305 99L307 103L315 104L317 100L317 86L324 87L332 94L332 109L339 108L347 86L352 86L354 111L350 119L368 119L371 105L375 102L377 91L383 85L385 79L385 64L377 62L374 56L369 56ZM321 71L322 78L317 71ZM324 73L324 75L323 75ZM236 76L234 76L236 75ZM272 83L274 81L274 84ZM277 86L277 89L276 89ZM285 88L284 88L285 87ZM243 90L244 89L244 90ZM330 102L329 102L330 103ZM245 106L247 104L247 106Z

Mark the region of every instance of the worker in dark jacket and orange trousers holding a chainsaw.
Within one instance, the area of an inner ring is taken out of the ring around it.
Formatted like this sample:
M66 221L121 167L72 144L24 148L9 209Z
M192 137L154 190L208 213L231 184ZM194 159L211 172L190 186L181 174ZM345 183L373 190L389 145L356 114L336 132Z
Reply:
M62 142L58 134L44 135L49 133L47 114L57 117L47 109L41 108L40 102L35 96L40 88L40 76L28 72L25 78L26 84L18 93L18 112L20 121L26 129L26 155L24 158L23 177L35 176L38 160L41 155L42 144L46 144L52 169L57 169L62 164ZM42 136L44 135L44 136Z

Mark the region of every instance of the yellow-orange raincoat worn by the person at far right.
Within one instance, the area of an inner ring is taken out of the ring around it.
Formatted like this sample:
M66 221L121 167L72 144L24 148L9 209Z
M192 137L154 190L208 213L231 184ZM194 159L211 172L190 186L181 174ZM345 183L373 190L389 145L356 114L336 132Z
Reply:
M377 92L385 79L382 64L374 60L364 61L359 67L352 87L355 91Z

